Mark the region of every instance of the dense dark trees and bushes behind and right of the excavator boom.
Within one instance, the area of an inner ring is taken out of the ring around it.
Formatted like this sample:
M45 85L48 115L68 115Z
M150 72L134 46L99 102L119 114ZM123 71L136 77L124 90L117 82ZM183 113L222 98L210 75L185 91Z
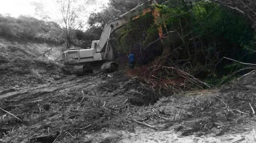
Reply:
M122 7L118 7L119 3ZM96 29L102 28L117 13L141 3L143 1L111 0L110 7L91 15L87 33L97 32ZM118 53L127 54L132 50L138 64L143 65L162 55L164 46L168 53L161 56L161 65L178 67L201 78L222 77L243 67L223 60L224 56L249 63L256 60L253 23L237 10L209 1L179 0L164 1L155 8L161 12L158 23L162 24L167 38L162 43L156 41L159 38L157 26L153 16L147 14L115 33L112 44ZM94 33L94 37L97 36Z

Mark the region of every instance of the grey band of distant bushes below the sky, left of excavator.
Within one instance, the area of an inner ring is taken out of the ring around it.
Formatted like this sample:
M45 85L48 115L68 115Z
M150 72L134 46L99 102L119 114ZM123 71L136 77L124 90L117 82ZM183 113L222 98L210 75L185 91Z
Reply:
M0 15L0 36L12 40L44 41L55 44L65 42L63 30L56 22L46 22L27 16L14 18Z

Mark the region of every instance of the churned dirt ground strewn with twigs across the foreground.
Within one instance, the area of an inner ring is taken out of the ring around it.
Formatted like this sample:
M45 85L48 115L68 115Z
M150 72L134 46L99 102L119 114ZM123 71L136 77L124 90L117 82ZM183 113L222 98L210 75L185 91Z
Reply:
M2 74L0 142L256 141L254 72L220 89L159 94L121 70L76 76L44 64L29 67L45 68L41 83L13 88L30 74Z

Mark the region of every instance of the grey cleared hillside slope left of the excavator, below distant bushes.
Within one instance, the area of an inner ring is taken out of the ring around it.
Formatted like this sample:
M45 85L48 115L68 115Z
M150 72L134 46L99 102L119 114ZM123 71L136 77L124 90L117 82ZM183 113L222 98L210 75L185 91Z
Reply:
M10 87L15 90L59 78L55 61L61 59L60 46L0 39L0 49L0 93ZM44 56L42 53L48 50Z

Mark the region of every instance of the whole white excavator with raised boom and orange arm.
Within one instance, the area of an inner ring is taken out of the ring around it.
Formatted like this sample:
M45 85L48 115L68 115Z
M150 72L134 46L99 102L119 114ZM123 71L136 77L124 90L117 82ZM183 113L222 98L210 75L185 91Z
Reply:
M159 10L155 9L157 5L156 1L153 1L150 8L140 9L143 4L135 7L134 9L124 13L115 20L108 22L101 33L100 39L92 41L91 47L88 49L70 48L63 52L63 62L68 70L74 69L74 67L82 67L79 70L84 72L93 72L95 69L102 69L106 72L113 72L118 69L117 63L114 60L113 47L110 44L110 38L113 32L118 28L127 24L131 19L136 20L140 16L147 13L152 13L154 16L155 24L158 25L159 37L162 39L163 31L162 25L157 23L157 18L160 16ZM138 14L139 12L139 14Z

